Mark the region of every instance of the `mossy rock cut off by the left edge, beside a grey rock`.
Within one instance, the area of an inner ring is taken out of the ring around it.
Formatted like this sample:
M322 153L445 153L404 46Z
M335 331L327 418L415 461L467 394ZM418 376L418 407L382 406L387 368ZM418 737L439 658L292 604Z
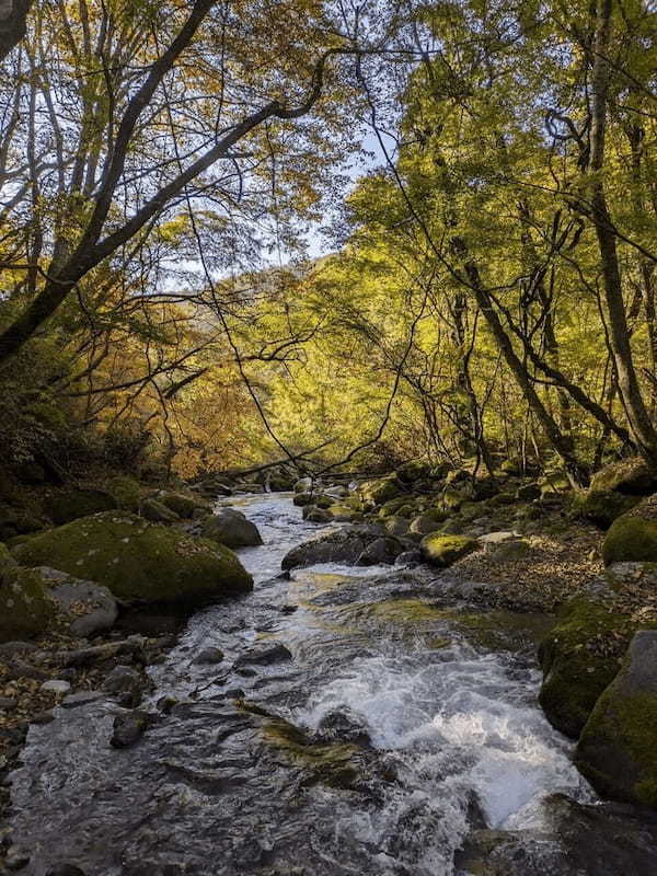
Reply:
M56 614L38 573L20 568L0 544L0 642L39 635Z

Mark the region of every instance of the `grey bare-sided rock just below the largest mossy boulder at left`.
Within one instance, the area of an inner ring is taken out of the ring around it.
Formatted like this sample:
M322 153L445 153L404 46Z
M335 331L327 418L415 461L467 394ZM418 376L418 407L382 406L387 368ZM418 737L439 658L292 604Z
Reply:
M78 638L89 638L114 626L118 606L107 587L73 578L59 569L41 566L36 572L49 585L49 595L58 611L70 619L69 631Z

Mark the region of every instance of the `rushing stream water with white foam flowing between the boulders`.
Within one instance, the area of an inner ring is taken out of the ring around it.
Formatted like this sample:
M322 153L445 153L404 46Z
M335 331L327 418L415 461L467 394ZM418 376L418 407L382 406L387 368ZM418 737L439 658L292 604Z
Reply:
M265 540L241 552L255 589L192 618L151 670L152 710L173 707L124 750L105 698L31 728L24 873L448 876L472 829L540 833L549 795L593 799L535 702L541 619L505 626L426 570L276 577L322 528L280 494L234 504ZM194 662L208 646L222 662Z

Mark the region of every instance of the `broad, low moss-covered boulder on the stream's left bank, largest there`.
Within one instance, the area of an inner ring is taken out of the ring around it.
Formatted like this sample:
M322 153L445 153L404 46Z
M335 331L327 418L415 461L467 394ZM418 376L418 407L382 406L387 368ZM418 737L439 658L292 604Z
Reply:
M19 545L14 558L104 584L127 601L193 607L253 586L228 548L127 511L105 511L43 532Z

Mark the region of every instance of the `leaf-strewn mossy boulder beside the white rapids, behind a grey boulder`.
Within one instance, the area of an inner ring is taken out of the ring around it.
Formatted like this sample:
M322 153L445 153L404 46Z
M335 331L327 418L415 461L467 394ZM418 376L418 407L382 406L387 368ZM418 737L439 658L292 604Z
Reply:
M539 648L539 702L553 727L574 739L579 736L598 696L619 671L619 648L636 626L601 600L576 597L564 606Z

